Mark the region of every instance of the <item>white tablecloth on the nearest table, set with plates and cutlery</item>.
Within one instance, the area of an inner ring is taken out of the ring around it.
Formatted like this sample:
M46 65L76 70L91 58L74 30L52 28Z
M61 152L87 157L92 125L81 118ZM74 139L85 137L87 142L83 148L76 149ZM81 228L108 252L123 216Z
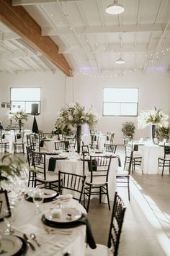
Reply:
M40 206L42 213L50 208L55 208L57 200L54 202L45 202ZM68 208L76 208L81 210L82 213L86 213L79 202L76 200L69 200L68 202L63 202L63 205ZM28 249L27 256L63 256L64 253L70 252L74 256L84 256L85 252L85 240L86 240L86 226L81 225L70 229L56 229L55 234L48 234L43 228L44 224L41 221L42 213L35 214L35 204L33 202L27 202L22 200L19 202L16 208L16 220L13 226L22 231L22 233L17 232L16 234L22 236L23 233L29 235L31 233L36 234L38 242L41 246L37 247L35 242L32 242L36 251L33 252L32 249ZM4 221L0 223L0 229L3 230L5 227ZM64 233L66 230L71 231L69 234ZM63 233L62 233L63 231Z

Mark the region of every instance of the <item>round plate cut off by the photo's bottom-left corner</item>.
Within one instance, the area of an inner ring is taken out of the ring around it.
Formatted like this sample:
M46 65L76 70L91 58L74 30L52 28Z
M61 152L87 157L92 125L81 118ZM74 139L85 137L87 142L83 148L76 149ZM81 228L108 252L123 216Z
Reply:
M22 240L17 236L2 236L1 238L1 247L0 255L3 256L12 256L19 252L22 249Z

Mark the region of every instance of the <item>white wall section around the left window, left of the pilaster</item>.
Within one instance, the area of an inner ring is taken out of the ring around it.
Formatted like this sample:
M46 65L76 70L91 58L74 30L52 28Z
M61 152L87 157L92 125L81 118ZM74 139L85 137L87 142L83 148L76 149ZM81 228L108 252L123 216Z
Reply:
M50 132L53 129L55 117L65 105L66 76L63 72L27 72L22 74L0 73L0 103L10 101L10 88L41 88L40 116L36 116L39 129ZM9 108L1 108L0 120L4 127L9 124L6 112ZM25 129L32 129L33 116L24 121Z

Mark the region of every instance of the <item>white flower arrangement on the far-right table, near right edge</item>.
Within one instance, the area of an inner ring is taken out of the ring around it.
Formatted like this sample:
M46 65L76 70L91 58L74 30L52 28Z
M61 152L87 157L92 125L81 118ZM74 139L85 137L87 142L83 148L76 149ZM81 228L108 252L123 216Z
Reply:
M169 119L169 116L164 114L161 109L156 109L156 107L149 111L140 111L138 116L138 129L143 129L149 125L169 127L167 119Z

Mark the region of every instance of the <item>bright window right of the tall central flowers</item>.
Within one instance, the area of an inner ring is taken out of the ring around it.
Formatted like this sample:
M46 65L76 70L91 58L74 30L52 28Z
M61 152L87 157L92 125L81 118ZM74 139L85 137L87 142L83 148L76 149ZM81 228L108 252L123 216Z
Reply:
M138 88L104 88L104 116L137 116Z

